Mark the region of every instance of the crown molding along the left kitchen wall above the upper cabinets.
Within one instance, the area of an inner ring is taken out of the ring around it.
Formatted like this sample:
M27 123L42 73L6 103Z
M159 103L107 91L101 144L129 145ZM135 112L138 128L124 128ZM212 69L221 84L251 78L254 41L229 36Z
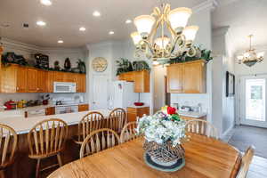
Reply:
M28 53L85 53L85 47L80 48L56 48L42 47L34 44L26 44L9 38L2 37L1 42L5 47L15 48Z

